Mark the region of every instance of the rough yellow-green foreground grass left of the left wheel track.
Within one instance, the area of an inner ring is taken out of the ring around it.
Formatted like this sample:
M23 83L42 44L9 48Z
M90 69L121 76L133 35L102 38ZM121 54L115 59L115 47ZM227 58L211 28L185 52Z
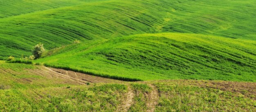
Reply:
M114 112L127 87L123 84L34 90L0 90L1 111Z

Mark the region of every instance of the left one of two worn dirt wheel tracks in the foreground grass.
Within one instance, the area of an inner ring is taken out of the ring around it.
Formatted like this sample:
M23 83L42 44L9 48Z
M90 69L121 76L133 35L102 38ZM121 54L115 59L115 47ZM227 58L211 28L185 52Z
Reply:
M132 89L128 86L128 92L126 94L126 99L121 103L121 105L117 109L117 112L127 112L133 103L133 97L134 97L134 93L133 93Z

